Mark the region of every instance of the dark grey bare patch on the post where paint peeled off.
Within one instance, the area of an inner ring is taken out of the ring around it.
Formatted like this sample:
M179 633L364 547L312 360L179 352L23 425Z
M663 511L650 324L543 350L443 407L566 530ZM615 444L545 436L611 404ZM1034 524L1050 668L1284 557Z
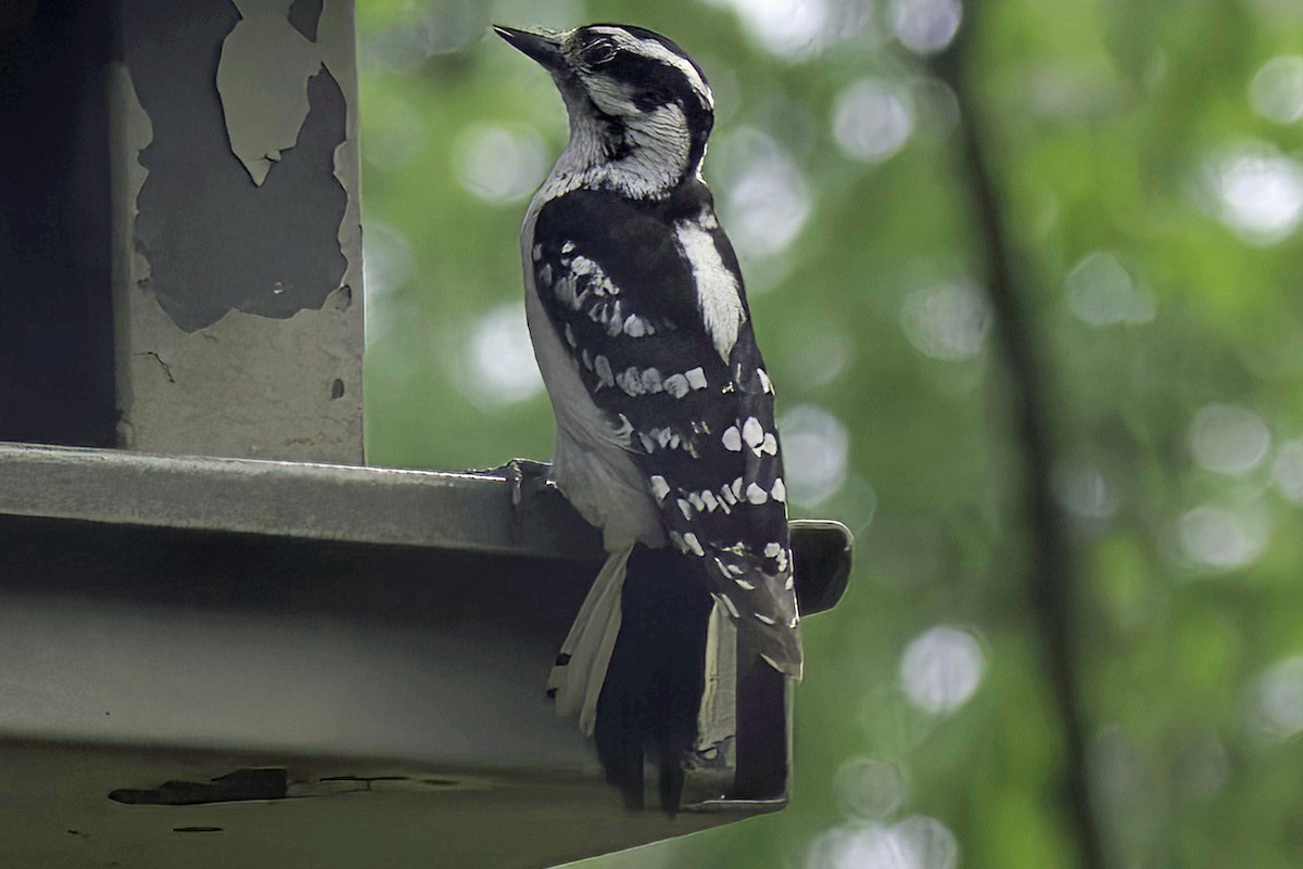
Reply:
M136 246L150 264L141 286L186 332L211 325L231 308L266 317L321 308L349 282L349 261L339 246L349 191L332 173L336 148L348 135L344 90L318 64L306 82L309 111L297 144L262 186L249 183L248 170L232 157L212 87L219 61L194 57L203 40L211 46L238 27L229 9L229 25L184 25L202 27L193 34L173 35L179 22L142 22L142 33L132 34L136 42L149 44L164 30L171 42L129 49L128 59L154 126L139 157L149 176L137 196ZM310 44L288 23L285 29Z

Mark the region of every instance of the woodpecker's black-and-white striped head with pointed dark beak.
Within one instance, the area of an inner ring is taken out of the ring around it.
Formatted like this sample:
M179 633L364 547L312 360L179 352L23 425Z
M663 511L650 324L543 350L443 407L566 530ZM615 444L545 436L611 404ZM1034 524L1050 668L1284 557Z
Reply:
M552 74L569 112L571 169L609 167L615 183L627 170L659 191L697 177L715 100L674 42L629 25L494 31Z

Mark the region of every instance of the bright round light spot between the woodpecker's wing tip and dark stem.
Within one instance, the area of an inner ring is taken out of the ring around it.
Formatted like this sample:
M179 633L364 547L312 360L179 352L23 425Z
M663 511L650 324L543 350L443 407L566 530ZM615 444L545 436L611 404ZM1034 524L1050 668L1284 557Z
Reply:
M900 684L924 712L950 715L968 702L986 671L977 639L946 624L924 631L900 658Z

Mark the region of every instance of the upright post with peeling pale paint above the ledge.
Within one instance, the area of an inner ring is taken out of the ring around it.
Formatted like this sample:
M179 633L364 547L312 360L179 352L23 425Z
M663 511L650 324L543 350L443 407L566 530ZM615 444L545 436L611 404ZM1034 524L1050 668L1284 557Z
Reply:
M361 463L352 0L130 0L121 29L119 445Z

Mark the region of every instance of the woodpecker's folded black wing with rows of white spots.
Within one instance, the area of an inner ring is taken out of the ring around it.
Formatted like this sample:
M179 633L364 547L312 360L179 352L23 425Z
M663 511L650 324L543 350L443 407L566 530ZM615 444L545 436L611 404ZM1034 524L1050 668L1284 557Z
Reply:
M756 650L799 675L773 388L732 248L717 229L696 232L737 293L727 359L721 329L702 315L709 293L698 289L711 277L718 285L719 269L702 274L701 258L685 256L654 208L601 191L545 204L530 251L534 282L594 403L625 432L670 539L701 559L711 592Z

